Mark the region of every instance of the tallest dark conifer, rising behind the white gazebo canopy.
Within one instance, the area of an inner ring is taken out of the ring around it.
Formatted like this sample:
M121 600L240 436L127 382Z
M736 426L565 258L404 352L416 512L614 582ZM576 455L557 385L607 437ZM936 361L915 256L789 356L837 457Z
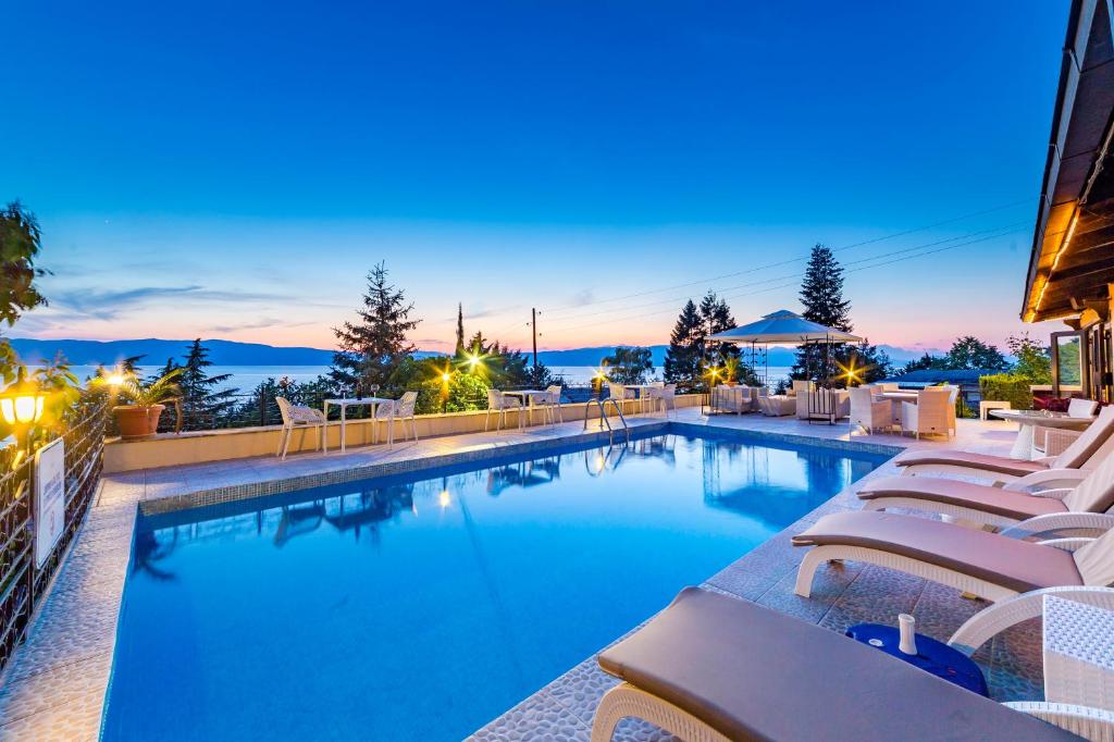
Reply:
M851 331L851 302L843 299L843 267L831 248L819 243L812 247L804 270L804 281L801 282L800 297L805 320L843 332ZM815 373L823 367L825 358L841 358L846 354L842 345L829 349L815 344L801 345L790 377L805 379L810 371Z

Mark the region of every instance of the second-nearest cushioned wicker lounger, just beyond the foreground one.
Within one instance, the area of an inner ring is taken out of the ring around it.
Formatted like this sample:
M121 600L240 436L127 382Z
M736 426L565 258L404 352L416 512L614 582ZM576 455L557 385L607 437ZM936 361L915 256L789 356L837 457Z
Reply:
M1114 528L1097 515L1092 527ZM792 539L812 546L797 573L795 592L809 597L821 564L851 559L925 577L988 601L1046 587L1114 585L1114 530L1098 538L1025 541L956 524L856 510L824 516Z

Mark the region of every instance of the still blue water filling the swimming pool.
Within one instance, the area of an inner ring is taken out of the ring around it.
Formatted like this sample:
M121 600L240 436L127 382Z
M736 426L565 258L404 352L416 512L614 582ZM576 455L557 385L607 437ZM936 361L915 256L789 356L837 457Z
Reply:
M461 739L882 460L668 435L140 517L105 735Z

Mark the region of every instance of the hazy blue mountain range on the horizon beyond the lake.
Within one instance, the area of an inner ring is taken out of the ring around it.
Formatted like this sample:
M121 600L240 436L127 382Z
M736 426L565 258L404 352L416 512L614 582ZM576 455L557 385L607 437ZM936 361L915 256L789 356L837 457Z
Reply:
M27 363L40 363L58 354L74 365L113 365L133 355L145 355L144 365L162 365L168 358L179 359L186 352L188 340L32 340L14 338L12 346ZM217 365L329 365L333 360L331 350L319 348L280 348L262 343L241 343L232 340L204 340L209 349L209 358ZM654 365L665 363L667 345L651 345ZM895 363L905 363L924 355L924 350L909 350L893 345L879 345L889 353ZM546 365L592 365L597 367L607 355L615 352L614 345L576 348L563 351L538 351L538 361ZM934 354L944 351L930 350ZM528 352L527 352L528 354ZM444 355L436 351L418 351L414 355L426 358ZM747 358L744 349L743 358ZM766 357L769 365L792 365L797 354L792 348L770 348Z

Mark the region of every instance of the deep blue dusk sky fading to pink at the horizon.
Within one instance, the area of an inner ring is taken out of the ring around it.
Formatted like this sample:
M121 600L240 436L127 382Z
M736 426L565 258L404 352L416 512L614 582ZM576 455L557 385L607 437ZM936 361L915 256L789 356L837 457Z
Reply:
M13 336L332 348L384 262L450 349L668 341L800 311L837 250L871 342L1018 319L1068 0L17 3Z

